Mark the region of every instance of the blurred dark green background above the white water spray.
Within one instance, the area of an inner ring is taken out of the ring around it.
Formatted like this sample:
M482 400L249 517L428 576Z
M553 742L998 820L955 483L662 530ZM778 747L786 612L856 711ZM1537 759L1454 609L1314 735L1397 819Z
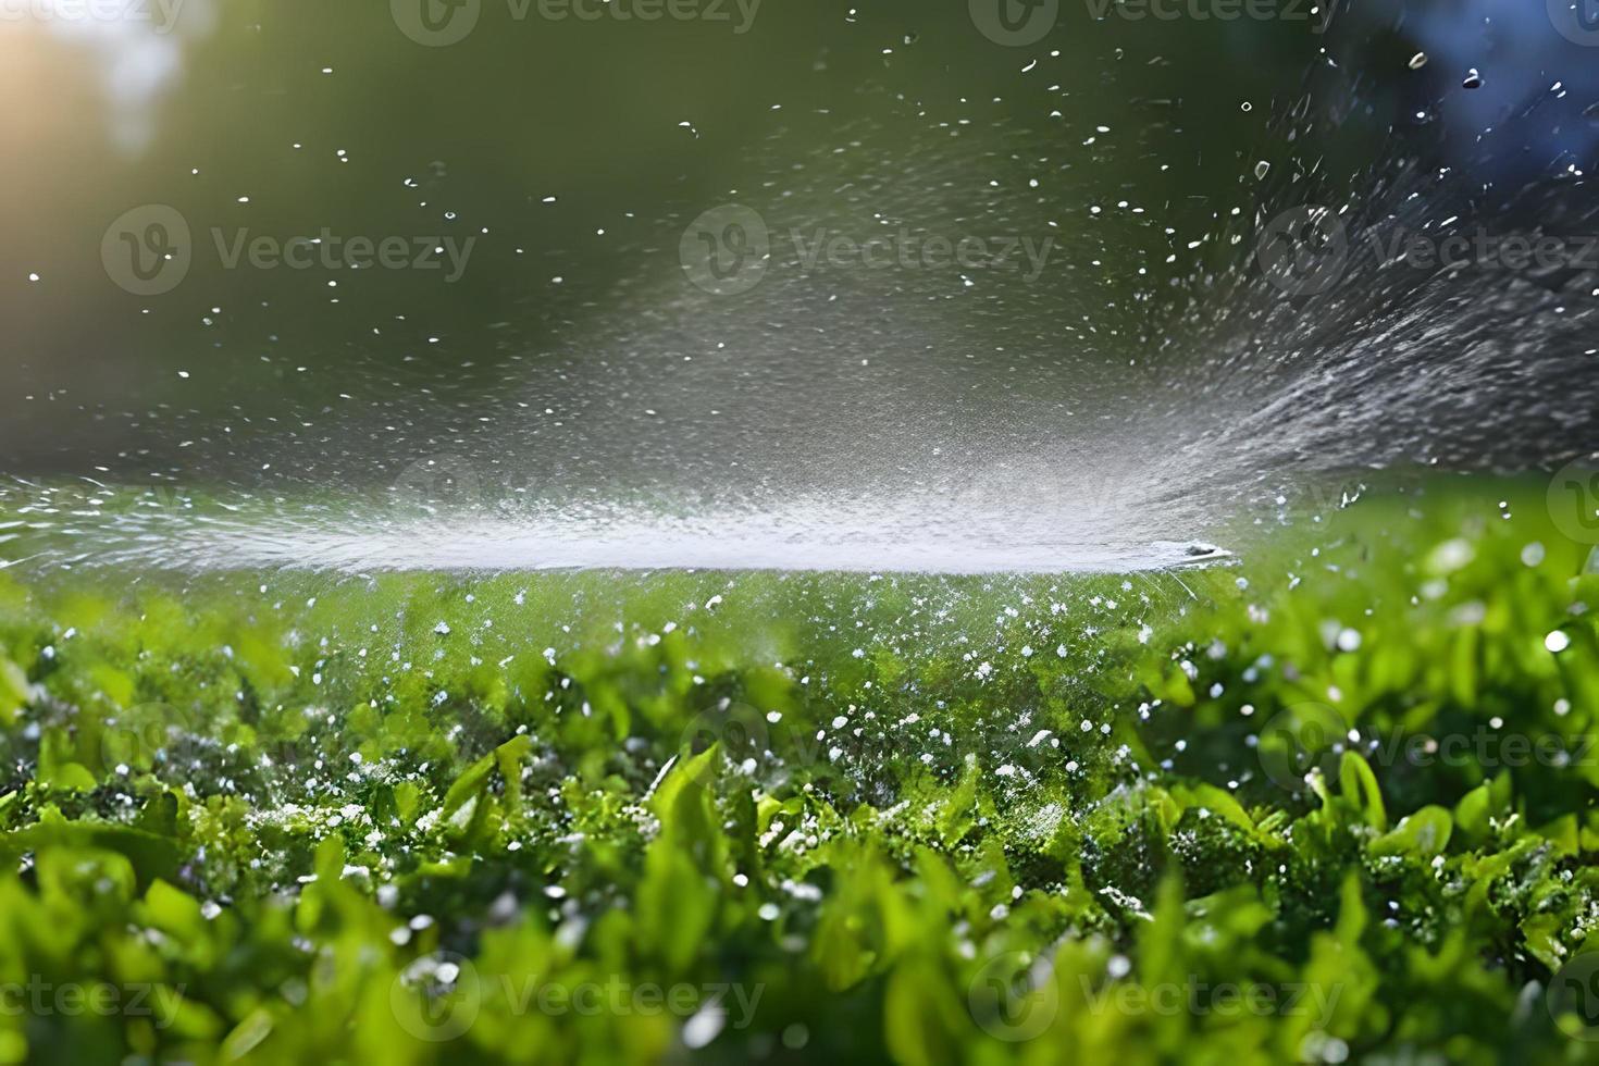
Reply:
M1138 10L6 0L0 470L381 484L465 452L823 484L1091 441L1174 374L1204 401L1182 323L1263 211L1401 157L1489 198L1594 157L1599 50L1541 0ZM181 280L134 292L107 262L181 237L150 205L187 227ZM739 296L684 278L720 205L774 233ZM1036 280L807 272L793 232L1054 243ZM229 265L256 238L464 259Z

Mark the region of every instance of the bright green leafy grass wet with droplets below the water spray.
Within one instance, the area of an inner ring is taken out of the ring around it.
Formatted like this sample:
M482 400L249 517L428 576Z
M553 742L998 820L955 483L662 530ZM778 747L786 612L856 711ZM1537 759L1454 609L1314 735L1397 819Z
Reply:
M1591 1061L1586 558L0 579L0 1060Z

